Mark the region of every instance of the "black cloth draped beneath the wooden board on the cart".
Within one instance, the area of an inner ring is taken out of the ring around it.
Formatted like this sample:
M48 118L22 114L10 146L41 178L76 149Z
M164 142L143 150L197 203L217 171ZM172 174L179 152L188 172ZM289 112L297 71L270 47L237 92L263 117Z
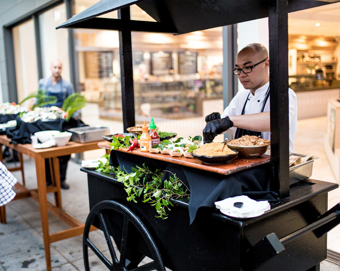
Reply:
M132 167L146 166L154 172L156 168L167 170L163 181L176 173L190 189L189 216L190 224L195 219L200 207L215 207L215 201L228 197L246 195L255 200L276 201L277 193L270 191L270 164L236 172L231 175L220 175L205 170L195 169L147 157L111 151L110 165L120 166L131 173ZM170 171L170 172L168 172Z

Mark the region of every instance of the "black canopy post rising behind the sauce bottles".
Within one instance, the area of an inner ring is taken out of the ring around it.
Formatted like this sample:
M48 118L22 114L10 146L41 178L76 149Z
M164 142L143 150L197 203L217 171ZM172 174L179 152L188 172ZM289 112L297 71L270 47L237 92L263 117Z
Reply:
M124 132L135 126L135 100L133 92L132 45L130 28L130 7L118 10L122 30L119 32L120 78L122 85L122 111Z

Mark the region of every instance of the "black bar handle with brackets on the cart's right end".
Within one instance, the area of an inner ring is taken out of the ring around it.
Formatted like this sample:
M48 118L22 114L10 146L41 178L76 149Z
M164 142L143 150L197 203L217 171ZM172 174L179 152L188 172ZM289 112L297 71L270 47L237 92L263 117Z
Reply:
M283 252L285 250L284 245L288 244L290 241L293 241L310 231L313 231L314 235L317 238L320 238L339 224L340 203L319 216L316 222L296 230L281 239L278 239L273 232L246 251L247 270L254 270L275 255Z

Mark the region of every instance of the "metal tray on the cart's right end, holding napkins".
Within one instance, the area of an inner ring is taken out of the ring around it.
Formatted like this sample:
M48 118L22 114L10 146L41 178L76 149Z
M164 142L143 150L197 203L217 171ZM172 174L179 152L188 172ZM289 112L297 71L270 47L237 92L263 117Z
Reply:
M290 155L296 155L296 156L301 156L301 157L307 156L304 154L293 153L293 152L289 153L289 156ZM313 159L307 162L290 167L289 168L289 185L306 180L310 176L312 176L313 162L314 160L317 160L317 159L319 159L319 157L314 156Z

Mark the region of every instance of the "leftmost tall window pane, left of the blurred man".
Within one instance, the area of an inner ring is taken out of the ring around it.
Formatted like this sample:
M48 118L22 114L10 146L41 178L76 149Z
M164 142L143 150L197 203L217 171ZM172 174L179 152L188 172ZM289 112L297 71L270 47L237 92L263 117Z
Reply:
M38 68L33 20L12 29L18 102L38 89ZM13 102L13 101L12 101Z

